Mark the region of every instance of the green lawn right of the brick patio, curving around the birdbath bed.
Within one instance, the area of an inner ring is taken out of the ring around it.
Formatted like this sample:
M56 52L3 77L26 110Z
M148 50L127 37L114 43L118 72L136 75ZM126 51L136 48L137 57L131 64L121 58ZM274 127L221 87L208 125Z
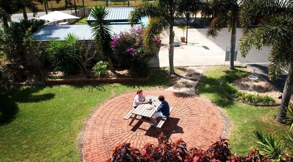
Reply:
M219 85L226 75L224 71L227 66L212 66L205 71L203 80L197 85L197 89L202 96L208 98L217 106L222 108L231 119L233 126L229 141L231 152L237 155L247 155L254 145L252 142L253 131L264 131L273 133L278 138L289 132L289 128L284 128L275 123L278 106L259 107L251 106L227 98L220 90ZM239 70L247 71L246 68L237 67Z

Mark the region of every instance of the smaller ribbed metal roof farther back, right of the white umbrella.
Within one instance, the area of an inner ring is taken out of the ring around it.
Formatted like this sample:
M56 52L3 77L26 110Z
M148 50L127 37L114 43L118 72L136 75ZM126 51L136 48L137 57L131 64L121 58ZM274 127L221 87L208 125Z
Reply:
M109 14L105 18L105 20L113 22L127 22L130 11L132 11L133 9L133 7L106 7L106 10L109 11ZM96 19L94 19L90 14L86 22L93 22L95 20Z

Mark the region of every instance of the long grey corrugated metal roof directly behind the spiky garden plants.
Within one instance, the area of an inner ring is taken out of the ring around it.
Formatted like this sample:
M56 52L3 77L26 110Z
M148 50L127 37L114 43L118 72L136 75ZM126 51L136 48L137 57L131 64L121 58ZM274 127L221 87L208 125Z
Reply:
M129 31L132 28L130 24L113 24L111 27L112 34ZM32 33L31 36L35 36L37 41L48 41L52 40L52 38L64 40L64 37L69 33L76 34L80 40L92 40L93 38L91 27L88 24L44 26Z

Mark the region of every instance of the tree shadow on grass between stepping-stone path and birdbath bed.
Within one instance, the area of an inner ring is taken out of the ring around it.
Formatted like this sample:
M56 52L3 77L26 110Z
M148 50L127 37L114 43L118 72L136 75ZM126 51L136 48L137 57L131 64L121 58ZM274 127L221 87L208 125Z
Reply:
M237 67L237 66L236 66ZM224 70L222 71L224 75L220 76L219 78L209 78L206 75L203 75L199 81L199 83L196 85L196 89L200 94L208 94L211 97L209 100L211 100L213 103L215 103L217 106L220 106L222 108L229 108L231 105L234 105L233 99L226 96L220 89L220 82L224 82L229 78L229 75L231 73L235 72L246 72L242 70Z

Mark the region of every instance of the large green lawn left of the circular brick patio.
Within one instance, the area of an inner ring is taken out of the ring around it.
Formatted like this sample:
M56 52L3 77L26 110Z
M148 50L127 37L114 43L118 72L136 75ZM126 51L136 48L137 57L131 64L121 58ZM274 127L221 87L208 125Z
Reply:
M93 108L123 91L164 87L167 73L156 70L145 83L0 91L0 161L79 161L77 137Z

